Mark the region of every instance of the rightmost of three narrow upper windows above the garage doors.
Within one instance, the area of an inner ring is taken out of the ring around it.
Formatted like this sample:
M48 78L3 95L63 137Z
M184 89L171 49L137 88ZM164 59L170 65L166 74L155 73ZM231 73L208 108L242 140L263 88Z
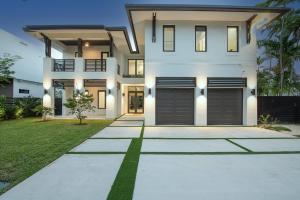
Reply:
M227 27L227 51L239 51L239 28L237 26Z

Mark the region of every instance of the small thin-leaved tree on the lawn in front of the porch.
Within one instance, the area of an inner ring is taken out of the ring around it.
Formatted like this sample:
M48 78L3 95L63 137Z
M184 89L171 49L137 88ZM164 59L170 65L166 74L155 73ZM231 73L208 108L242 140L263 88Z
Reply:
M70 113L74 114L79 119L79 124L86 118L85 112L95 111L95 106L92 105L94 101L93 95L85 94L84 92L74 92L73 97L67 99L64 106L70 109Z

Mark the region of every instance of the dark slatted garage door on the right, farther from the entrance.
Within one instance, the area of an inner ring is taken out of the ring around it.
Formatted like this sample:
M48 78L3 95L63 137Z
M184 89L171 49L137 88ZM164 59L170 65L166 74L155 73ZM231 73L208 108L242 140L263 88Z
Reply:
M243 89L208 89L207 124L241 125L243 123Z

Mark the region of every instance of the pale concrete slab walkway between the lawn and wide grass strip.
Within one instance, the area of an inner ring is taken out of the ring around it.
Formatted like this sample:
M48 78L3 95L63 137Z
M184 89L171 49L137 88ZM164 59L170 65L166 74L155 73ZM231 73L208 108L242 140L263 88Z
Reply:
M136 121L136 126L132 124L135 121L120 122L123 126L106 127L1 195L0 200L107 199L131 140L140 137L143 125L143 121Z

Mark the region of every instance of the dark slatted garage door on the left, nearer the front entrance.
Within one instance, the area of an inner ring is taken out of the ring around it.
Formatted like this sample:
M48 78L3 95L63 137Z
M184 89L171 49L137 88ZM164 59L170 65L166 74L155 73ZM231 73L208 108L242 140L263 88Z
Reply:
M157 88L156 124L194 124L194 89Z

